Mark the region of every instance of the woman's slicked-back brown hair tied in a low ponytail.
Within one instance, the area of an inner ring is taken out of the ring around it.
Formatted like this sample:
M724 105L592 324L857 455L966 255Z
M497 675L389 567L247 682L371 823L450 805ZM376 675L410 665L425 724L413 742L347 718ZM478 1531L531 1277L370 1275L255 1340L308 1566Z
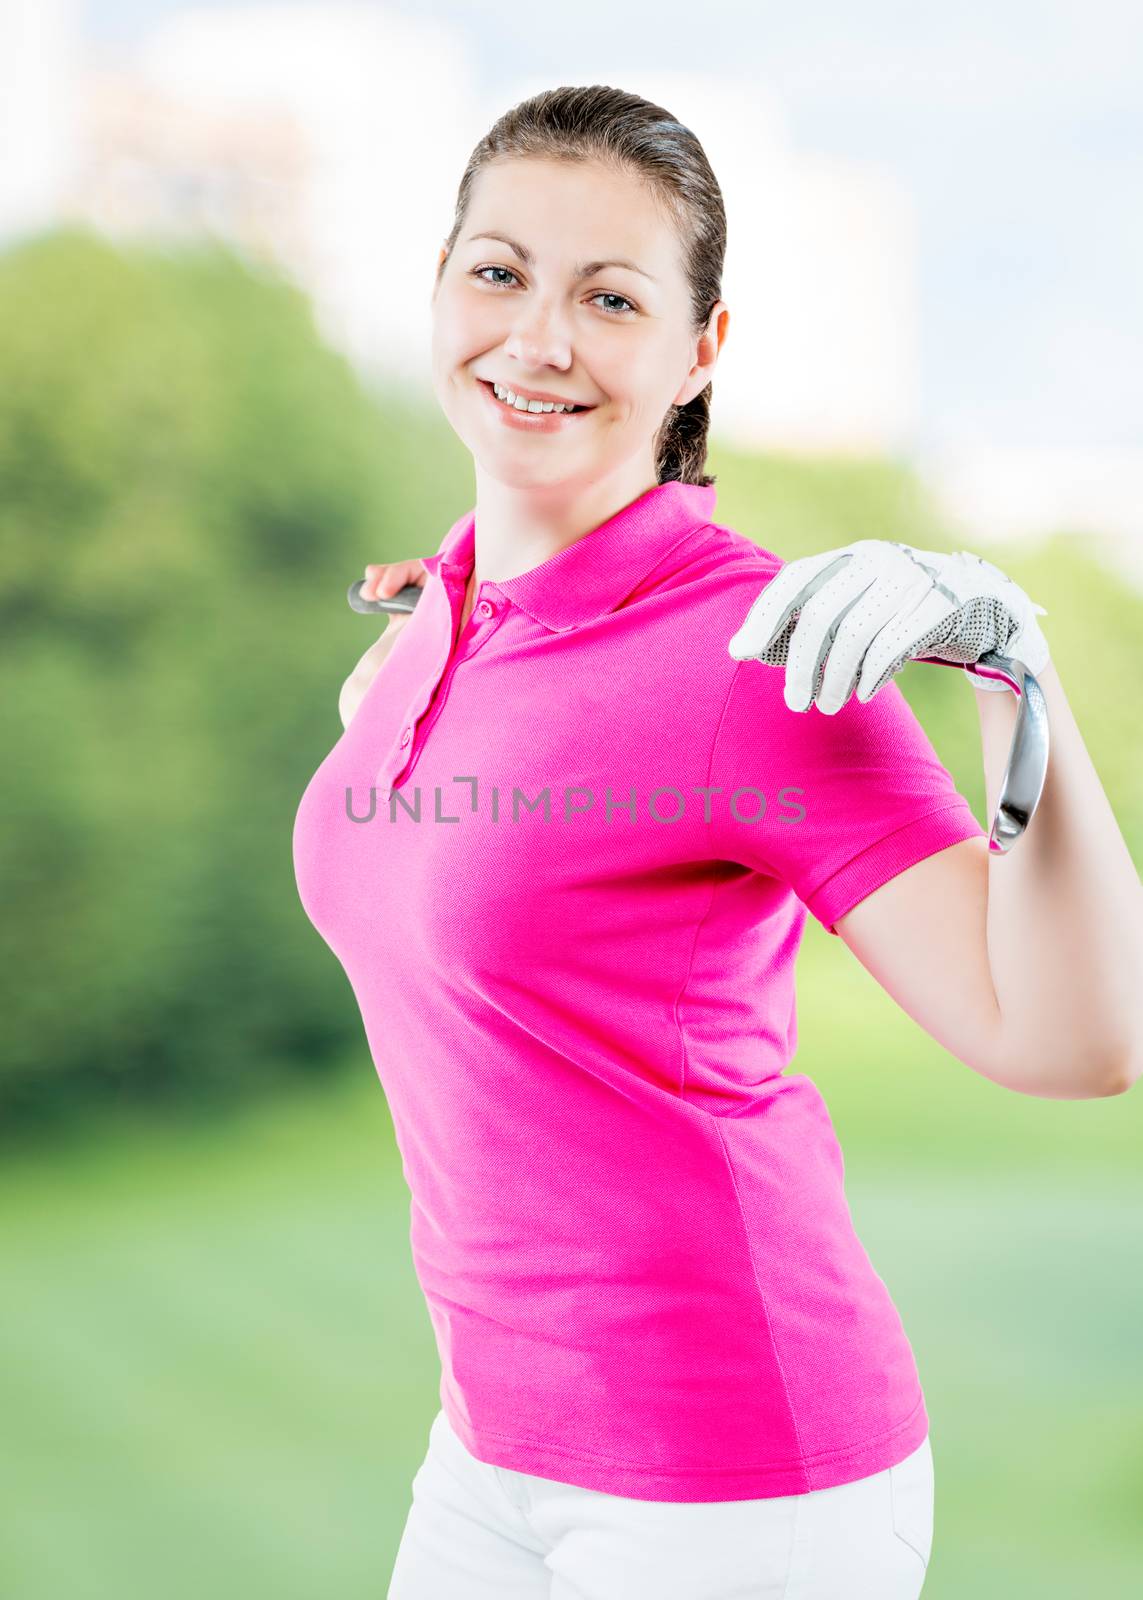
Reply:
M610 162L645 179L679 230L690 283L692 333L701 333L722 298L722 261L727 253L722 190L690 128L661 106L602 83L544 90L504 112L485 133L461 178L456 221L445 240L447 256L437 267L437 283L464 226L477 173L491 162L530 155L549 162ZM672 405L663 418L655 435L660 483L716 482L703 470L711 389L708 384L688 405Z

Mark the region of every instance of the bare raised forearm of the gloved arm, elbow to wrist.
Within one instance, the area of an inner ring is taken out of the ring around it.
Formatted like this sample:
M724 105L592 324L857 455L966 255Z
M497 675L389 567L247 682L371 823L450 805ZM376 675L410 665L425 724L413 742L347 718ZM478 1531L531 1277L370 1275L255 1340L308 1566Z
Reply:
M1053 664L1039 683L1049 771L1025 834L989 858L989 965L1009 1086L1087 1099L1143 1066L1143 886ZM1017 701L978 691L977 706L991 818Z

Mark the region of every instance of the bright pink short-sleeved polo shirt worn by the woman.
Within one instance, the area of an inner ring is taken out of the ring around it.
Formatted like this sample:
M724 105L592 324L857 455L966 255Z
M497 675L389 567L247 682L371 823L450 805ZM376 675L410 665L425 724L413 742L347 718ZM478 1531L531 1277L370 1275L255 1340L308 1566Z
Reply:
M783 669L730 658L781 560L714 501L648 490L482 582L456 637L461 517L293 837L392 1114L448 1421L634 1499L829 1488L924 1440L829 1112L784 1070L794 958L807 910L832 933L986 837L893 680L791 712Z

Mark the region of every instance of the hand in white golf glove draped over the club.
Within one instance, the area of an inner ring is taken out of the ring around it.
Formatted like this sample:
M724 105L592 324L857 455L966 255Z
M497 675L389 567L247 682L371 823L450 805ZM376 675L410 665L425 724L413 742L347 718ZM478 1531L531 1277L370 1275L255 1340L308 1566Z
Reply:
M1049 646L1036 616L1047 616L1044 606L980 555L856 539L788 562L728 650L735 661L784 666L791 710L816 702L832 715L855 685L864 704L906 661L961 666L983 690L1007 688L973 672L988 651L1039 674Z

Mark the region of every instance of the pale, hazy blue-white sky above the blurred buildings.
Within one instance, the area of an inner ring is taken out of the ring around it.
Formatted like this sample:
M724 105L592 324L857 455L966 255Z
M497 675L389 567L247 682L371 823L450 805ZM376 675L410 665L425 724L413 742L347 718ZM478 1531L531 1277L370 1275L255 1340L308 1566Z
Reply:
M130 43L189 8L86 0L85 29ZM1143 446L1140 0L383 8L458 30L493 99L688 62L757 83L800 150L880 165L916 206L920 442Z

